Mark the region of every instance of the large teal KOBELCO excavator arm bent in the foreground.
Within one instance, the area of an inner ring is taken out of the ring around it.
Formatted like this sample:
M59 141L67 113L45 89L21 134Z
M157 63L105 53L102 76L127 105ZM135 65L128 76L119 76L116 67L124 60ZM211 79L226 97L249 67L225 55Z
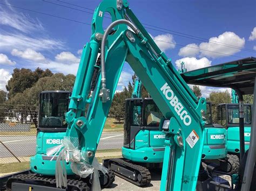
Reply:
M106 12L112 24L104 32ZM83 49L66 114L66 136L78 139L79 150L92 164L125 61L164 115L160 128L166 133L167 146L161 190L196 189L206 101L201 98L196 103L197 97L126 0L103 0L95 10L91 40Z

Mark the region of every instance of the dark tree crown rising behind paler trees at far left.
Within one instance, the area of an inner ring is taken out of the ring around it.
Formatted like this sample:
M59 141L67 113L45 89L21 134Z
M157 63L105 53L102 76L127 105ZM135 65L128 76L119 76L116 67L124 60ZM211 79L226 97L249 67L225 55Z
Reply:
M9 91L8 98L14 97L15 94L23 93L25 89L31 88L41 77L52 75L49 69L42 70L37 68L32 72L31 69L15 68L11 79L6 85L6 89Z

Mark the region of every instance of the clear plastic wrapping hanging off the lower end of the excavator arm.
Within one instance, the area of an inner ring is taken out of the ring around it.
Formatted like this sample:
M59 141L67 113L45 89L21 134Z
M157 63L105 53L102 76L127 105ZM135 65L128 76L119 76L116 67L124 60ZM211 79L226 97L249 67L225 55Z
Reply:
M79 175L81 178L86 178L93 173L92 190L101 190L99 182L99 172L103 174L108 173L107 168L99 164L96 158L93 158L92 164L88 163L86 153L78 149L79 139L73 137L64 137L62 145L58 145L47 150L47 155L53 155L52 159L58 154L56 160L56 187L62 188L67 186L67 175L65 162L71 162L71 169L73 173ZM63 148L63 149L62 149ZM62 150L62 151L60 151ZM52 160L51 159L51 160ZM62 162L61 162L62 161Z

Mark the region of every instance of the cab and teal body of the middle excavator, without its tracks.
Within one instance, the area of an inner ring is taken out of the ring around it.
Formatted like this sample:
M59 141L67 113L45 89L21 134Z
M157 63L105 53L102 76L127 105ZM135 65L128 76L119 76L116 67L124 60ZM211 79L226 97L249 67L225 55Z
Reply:
M159 131L162 116L152 98L125 100L122 148L125 159L146 163L163 162L165 134Z

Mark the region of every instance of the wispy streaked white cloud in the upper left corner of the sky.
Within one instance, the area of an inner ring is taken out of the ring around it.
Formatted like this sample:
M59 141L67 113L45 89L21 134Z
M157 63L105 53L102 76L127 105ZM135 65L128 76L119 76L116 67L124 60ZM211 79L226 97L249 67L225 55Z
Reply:
M10 5L8 1L5 4ZM0 6L0 15L0 51L12 51L14 48L35 51L64 49L63 40L49 38L43 24L28 13L18 12L11 6Z

